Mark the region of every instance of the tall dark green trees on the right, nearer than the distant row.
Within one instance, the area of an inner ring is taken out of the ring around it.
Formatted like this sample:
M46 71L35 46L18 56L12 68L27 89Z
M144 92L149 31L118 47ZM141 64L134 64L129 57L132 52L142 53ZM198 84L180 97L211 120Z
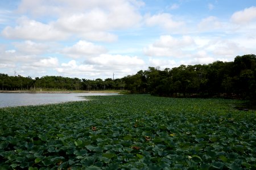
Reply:
M256 100L256 57L237 56L234 62L216 61L208 65L181 65L159 70L149 67L123 78L133 92L150 92L159 96L224 95Z

